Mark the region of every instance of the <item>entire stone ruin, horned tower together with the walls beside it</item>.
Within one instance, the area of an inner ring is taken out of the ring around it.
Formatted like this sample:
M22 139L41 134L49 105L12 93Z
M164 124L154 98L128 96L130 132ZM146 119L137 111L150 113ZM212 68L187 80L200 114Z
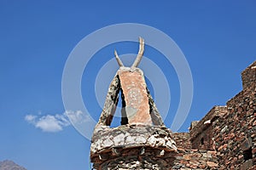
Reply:
M241 72L242 90L224 106L213 106L189 133L172 133L162 122L137 68L143 56L140 38L137 59L119 64L90 146L93 169L256 170L256 61ZM122 101L121 122L110 127Z

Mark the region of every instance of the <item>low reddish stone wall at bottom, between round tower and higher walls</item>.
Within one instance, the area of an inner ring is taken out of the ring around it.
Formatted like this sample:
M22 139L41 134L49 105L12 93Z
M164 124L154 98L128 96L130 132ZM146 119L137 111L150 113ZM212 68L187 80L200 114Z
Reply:
M172 167L182 170L218 169L216 151L212 150L182 150L178 149L178 155Z

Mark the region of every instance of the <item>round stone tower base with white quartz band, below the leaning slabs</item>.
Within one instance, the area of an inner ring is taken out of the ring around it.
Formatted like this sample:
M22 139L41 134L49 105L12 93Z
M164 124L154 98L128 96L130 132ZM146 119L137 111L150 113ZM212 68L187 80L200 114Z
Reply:
M90 145L93 167L103 170L168 169L176 154L170 129L142 124L102 126L93 134Z

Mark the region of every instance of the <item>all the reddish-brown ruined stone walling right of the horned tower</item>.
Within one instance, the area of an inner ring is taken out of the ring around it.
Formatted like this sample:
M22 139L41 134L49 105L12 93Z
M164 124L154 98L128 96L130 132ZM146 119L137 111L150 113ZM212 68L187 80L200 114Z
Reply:
M178 155L172 169L256 169L256 62L241 77L241 93L191 123L192 150L182 149L182 135L174 135Z

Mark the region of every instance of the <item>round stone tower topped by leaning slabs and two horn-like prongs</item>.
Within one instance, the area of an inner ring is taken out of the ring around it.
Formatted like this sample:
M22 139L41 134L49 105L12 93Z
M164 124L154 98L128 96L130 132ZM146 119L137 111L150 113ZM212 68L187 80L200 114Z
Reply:
M177 154L172 132L161 120L149 94L143 71L137 68L143 57L144 40L140 37L137 59L125 67L119 64L108 88L107 99L96 124L90 146L90 160L97 170L172 169ZM121 92L122 111L119 127L109 127Z

